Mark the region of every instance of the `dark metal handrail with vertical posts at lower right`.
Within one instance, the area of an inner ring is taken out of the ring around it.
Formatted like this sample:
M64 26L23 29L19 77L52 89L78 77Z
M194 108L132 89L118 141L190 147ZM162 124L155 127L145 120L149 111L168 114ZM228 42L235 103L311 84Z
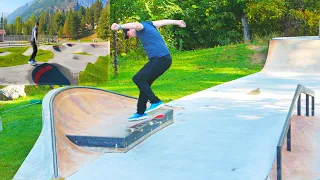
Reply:
M282 180L282 156L281 150L284 143L284 138L287 136L287 151L291 151L291 118L293 116L293 109L297 105L297 115L301 116L301 94L306 94L306 116L309 116L309 96L312 97L312 107L311 107L311 115L314 116L314 98L315 93L311 89L308 89L300 84L298 84L296 92L293 96L291 106L286 118L286 122L283 126L283 130L277 145L277 180Z

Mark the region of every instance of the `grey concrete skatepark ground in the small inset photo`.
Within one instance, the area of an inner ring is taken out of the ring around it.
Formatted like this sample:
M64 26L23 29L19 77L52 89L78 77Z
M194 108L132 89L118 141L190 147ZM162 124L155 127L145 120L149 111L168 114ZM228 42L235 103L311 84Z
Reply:
M107 43L63 43L60 46L41 45L39 49L53 52L53 59L47 63L59 68L62 74L69 79L71 84L77 85L80 71L84 71L88 63L95 63L99 56L110 53L110 44ZM4 54L4 53L2 53ZM6 53L7 54L7 53ZM23 53L25 56L32 54L32 47ZM37 59L42 64L41 59ZM35 66L30 64L0 68L0 84L6 85L35 85L31 74Z

